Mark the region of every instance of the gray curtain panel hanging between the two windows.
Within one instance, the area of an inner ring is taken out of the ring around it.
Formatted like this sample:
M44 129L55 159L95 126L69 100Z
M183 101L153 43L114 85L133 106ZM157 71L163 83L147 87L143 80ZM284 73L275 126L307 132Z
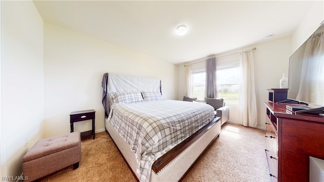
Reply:
M216 57L206 60L206 97L216 98Z

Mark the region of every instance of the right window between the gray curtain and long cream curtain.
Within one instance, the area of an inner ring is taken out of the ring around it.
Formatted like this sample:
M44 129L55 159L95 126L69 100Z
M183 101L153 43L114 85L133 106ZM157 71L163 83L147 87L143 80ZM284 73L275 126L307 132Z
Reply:
M216 69L218 98L223 98L225 103L238 104L238 72L238 64Z

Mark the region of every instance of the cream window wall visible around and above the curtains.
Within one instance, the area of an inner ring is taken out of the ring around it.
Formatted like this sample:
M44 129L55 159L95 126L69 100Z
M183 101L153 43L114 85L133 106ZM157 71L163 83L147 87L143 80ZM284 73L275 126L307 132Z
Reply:
M282 72L288 73L289 57L291 55L291 36L270 40L263 43L250 45L249 47L233 50L227 53L215 55L222 57L233 53L257 48L253 52L254 55L254 69L255 69L255 92L257 98L258 111L258 127L265 128L265 105L268 101L268 88L278 88L279 80L282 77ZM212 56L214 57L214 56ZM199 59L196 61L206 60ZM178 65L178 100L182 100L185 94L184 88L184 64ZM230 108L229 120L238 122L238 105L226 104Z

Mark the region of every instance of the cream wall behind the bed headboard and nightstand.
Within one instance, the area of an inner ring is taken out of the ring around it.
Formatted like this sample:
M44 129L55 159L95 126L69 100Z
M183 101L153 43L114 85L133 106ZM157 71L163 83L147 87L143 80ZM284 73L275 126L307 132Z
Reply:
M177 66L138 52L44 23L45 137L70 132L72 111L96 110L96 130L104 131L101 81L105 72L160 78L163 97L175 99ZM74 123L74 130L91 122Z

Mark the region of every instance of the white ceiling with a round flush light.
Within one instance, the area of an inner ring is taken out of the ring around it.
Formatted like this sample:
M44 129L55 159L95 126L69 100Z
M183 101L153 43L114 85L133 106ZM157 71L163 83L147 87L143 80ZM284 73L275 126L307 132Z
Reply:
M34 1L45 21L174 64L291 35L311 1ZM176 28L186 25L187 34Z

